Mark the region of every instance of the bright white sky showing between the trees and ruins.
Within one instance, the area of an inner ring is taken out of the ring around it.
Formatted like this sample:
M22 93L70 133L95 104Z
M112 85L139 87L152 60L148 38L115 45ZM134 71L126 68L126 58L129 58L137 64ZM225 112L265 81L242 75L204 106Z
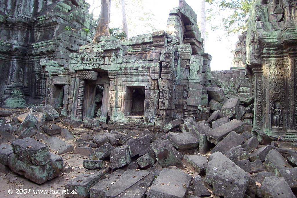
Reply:
M115 1L112 0L112 7L110 13L110 27L121 27L121 11L120 8L115 7ZM128 3L126 0L126 15L128 20L129 37L136 36L139 34L145 34L153 32L150 27L143 27L137 16L142 16L143 13L153 13L152 20L150 23L154 26L156 30L165 30L167 25L167 18L169 12L174 7L178 6L178 0L142 0L143 9L139 9L135 4ZM199 21L199 1L200 0L186 0L195 13L198 16ZM101 0L86 0L91 4L90 12L94 7L100 5ZM206 3L206 9L209 8L209 4ZM94 18L97 18L100 13L100 7L94 9ZM222 13L224 14L224 13ZM207 13L206 13L207 15ZM134 17L133 17L134 16ZM219 24L213 24L218 26ZM204 46L205 53L209 53L212 56L211 70L229 70L232 63L232 50L235 49L235 43L238 40L238 36L225 37L225 32L223 30L212 31L210 24L206 24L206 43ZM219 39L221 38L221 39Z

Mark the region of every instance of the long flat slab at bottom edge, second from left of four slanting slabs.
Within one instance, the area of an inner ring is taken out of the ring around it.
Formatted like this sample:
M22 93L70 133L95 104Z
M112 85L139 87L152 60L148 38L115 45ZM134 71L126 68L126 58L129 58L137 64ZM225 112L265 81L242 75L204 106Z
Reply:
M93 187L90 188L90 197L98 198L105 197L105 193L110 190L114 183L125 173L124 170L118 169L109 175L105 175L105 179L98 181Z

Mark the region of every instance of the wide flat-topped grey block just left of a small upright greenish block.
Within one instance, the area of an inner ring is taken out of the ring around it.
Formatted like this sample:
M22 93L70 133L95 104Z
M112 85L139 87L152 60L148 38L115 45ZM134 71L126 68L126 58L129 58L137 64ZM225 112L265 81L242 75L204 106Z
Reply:
M197 148L199 144L199 139L189 132L170 136L169 140L178 151Z

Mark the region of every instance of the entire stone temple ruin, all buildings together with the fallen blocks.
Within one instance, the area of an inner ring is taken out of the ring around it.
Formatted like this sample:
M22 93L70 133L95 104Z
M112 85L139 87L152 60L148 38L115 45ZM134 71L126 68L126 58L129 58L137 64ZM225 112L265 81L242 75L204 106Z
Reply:
M166 31L97 43L84 0L0 5L1 196L297 195L296 2L255 1L228 71L184 0Z

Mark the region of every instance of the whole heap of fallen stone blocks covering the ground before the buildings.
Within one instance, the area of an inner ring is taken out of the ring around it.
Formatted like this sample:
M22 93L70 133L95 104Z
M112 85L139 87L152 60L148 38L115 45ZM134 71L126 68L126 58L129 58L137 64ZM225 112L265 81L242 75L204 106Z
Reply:
M215 104L207 121L173 120L160 133L102 124L74 137L50 105L1 118L0 170L42 184L66 171L59 155L76 153L88 156L86 172L64 185L77 190L65 197L295 197L294 144L252 129L251 102L207 91Z

